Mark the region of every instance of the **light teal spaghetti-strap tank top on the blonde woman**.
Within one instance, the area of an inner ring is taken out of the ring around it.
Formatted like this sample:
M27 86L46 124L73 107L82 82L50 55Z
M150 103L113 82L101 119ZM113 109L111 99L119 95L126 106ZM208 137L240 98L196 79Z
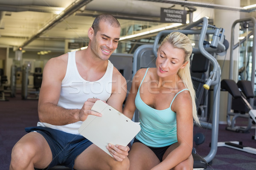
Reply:
M143 77L148 72L148 69ZM143 82L140 83L140 86ZM182 91L188 90L187 88L179 91L175 97ZM175 97L172 99L174 101ZM176 113L172 111L171 106L164 110L156 110L151 108L143 102L140 98L140 87L138 89L135 105L140 111L140 127L141 130L136 138L143 144L150 147L164 147L177 142L177 122Z

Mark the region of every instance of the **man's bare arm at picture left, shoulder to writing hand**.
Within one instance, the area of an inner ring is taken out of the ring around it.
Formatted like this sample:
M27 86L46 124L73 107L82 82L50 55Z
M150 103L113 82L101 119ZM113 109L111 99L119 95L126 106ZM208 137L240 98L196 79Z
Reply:
M99 113L90 111L97 99L88 99L81 110L65 109L57 106L61 93L61 82L66 74L67 58L68 54L52 58L44 67L43 81L38 100L40 122L52 125L67 125L79 120L84 121L88 114L101 116Z

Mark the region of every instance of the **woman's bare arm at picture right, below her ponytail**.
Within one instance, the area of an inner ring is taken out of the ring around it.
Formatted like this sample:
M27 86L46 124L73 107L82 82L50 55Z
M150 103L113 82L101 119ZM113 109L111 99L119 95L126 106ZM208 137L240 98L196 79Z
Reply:
M176 96L172 103L172 111L177 119L177 147L160 164L151 170L170 170L180 162L189 158L193 147L192 99L188 91Z

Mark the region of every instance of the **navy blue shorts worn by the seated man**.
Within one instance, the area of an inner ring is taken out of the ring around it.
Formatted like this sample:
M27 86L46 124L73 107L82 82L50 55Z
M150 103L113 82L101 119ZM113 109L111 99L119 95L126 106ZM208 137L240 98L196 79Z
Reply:
M65 133L48 127L26 127L25 130L40 133L48 142L52 151L52 162L48 168L63 164L73 169L76 157L93 144L81 135Z

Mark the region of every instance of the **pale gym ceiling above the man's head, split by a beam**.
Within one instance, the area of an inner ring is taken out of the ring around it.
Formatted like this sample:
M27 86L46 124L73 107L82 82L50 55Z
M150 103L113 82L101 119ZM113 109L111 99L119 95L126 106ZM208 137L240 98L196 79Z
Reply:
M154 26L160 24L156 22L160 20L160 8L171 8L174 5L141 0L89 0L86 6L81 8L79 6L79 10L69 17L64 18L52 28L40 32L40 29L58 17L56 10L65 9L78 1L0 0L0 47L17 49L22 46L27 51L44 49L64 52L65 40L87 42L87 30L98 14L113 14L118 18L122 28L128 28L134 24ZM190 0L190 2L194 1L213 2L213 0ZM256 0L249 1L250 4L256 3ZM242 0L241 6L246 6L249 1ZM173 8L184 9L179 4L175 4ZM35 35L36 37L32 38ZM23 45L30 39L31 42Z

